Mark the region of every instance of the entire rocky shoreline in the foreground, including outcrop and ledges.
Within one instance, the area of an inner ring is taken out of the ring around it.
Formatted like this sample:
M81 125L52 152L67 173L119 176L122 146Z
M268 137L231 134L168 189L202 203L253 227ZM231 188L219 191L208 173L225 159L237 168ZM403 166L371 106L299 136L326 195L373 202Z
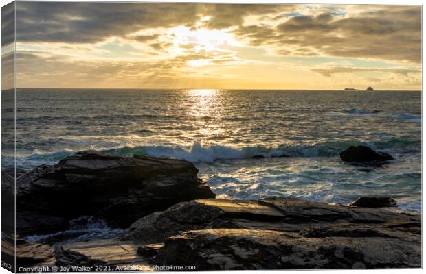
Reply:
M185 160L96 153L77 153L20 173L18 263L51 271L71 266L81 266L73 271L159 265L197 265L197 270L421 266L419 213L394 212L383 208L392 202L377 199L374 208L365 202L330 205L285 197L215 199L197 173ZM74 228L85 227L88 219L75 221L81 216L122 230L113 238L83 242L61 238L78 233L44 242L23 239L60 232L70 221ZM2 244L8 244L5 235Z

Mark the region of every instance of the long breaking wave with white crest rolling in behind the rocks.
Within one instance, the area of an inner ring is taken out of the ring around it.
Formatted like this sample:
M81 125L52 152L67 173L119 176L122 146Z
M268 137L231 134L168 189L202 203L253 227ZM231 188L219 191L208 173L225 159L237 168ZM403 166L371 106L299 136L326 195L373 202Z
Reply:
M248 158L276 158L276 157L333 157L351 145L368 145L372 149L379 149L388 153L412 153L421 150L421 140L405 140L390 138L379 142L339 141L322 142L312 145L282 145L278 147L230 147L225 145L203 146L194 142L191 147L173 146L121 146L111 149L89 149L86 151L111 153L115 155L148 155L159 158L175 158L189 162L214 162L216 160L236 160ZM55 153L33 153L18 158L21 168L38 166L40 164L56 164L59 160L73 155L77 151L69 149ZM3 165L7 166L8 159L3 158Z

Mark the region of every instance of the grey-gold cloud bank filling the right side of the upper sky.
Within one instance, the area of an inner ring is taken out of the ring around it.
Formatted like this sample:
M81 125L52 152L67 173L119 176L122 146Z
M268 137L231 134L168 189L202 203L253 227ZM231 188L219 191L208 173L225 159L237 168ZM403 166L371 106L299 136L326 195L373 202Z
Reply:
M421 62L421 8L387 6L341 18L339 14L295 16L278 27L240 27L251 45L276 45L284 55L332 55Z

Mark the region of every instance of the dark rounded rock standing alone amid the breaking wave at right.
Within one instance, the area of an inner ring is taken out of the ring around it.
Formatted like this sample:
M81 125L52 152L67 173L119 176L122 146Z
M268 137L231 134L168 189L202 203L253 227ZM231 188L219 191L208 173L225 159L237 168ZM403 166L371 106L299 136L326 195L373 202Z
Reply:
M387 153L374 151L370 147L363 145L350 146L348 149L341 151L340 158L345 162L383 162L394 159Z

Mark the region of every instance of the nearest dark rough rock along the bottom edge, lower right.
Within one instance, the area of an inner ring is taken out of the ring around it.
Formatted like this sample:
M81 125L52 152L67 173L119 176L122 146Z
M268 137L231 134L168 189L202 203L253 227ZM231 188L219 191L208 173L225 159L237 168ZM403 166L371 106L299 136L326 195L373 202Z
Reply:
M257 229L204 229L168 238L155 264L198 270L420 267L420 236L380 232L326 238Z

